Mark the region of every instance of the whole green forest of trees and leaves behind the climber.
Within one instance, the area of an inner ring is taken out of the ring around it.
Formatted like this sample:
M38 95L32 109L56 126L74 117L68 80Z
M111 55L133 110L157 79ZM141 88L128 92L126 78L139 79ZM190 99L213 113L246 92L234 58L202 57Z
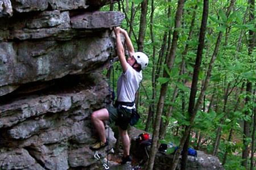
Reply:
M225 169L255 169L255 1L126 0L101 10L122 11L135 50L150 58L136 100L136 127L152 133L147 169L160 143L179 146L172 169L179 154L186 169L188 147ZM113 82L121 71L115 63Z

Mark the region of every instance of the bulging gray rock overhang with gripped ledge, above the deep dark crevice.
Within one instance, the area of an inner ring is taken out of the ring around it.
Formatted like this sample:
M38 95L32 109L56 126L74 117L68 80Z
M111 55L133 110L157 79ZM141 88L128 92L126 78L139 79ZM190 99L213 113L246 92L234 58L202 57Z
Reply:
M121 12L33 14L0 19L0 96L20 84L92 71L115 54L112 27L121 25Z

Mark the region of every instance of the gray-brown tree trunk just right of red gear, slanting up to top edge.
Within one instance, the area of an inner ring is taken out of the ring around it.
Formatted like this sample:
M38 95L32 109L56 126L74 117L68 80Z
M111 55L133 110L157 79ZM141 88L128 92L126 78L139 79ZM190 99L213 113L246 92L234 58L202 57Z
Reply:
M176 16L175 16L175 28L180 27L180 20L182 18L182 10L184 7L184 2L185 2L185 0L178 1L177 11L176 11ZM172 46L170 49L170 54L168 55L169 57L166 62L168 70L171 70L172 66L174 65L178 35L179 35L178 29L175 29L175 31L173 33L173 37L172 37ZM163 76L166 78L169 78L170 75L168 75L168 73L166 71L164 71ZM164 107L164 99L165 99L166 93L167 93L167 87L168 87L168 82L162 84L162 86L160 88L160 96L159 96L158 106L156 109L156 118L155 118L155 124L154 124L152 145L151 145L151 150L150 150L150 159L148 160L148 165L147 165L148 170L153 169L155 154L156 154L156 151L158 150L157 146L158 146L158 138L159 138L159 127L160 127L160 120L161 120L163 107Z

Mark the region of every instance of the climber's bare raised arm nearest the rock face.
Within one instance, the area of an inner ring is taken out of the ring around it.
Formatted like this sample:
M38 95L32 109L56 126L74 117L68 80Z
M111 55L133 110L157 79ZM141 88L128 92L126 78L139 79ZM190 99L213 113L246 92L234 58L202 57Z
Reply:
M115 39L116 39L115 41L117 42L118 59L121 62L123 72L125 72L129 64L127 63L125 58L125 49L123 48L123 44L120 37L120 27L114 27L114 32L115 32Z

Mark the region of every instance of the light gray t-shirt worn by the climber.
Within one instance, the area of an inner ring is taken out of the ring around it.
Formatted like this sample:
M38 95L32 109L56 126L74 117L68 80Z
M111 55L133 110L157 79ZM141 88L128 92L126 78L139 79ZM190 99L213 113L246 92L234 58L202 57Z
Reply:
M118 78L117 101L133 102L141 80L142 71L138 72L129 65L126 72Z

